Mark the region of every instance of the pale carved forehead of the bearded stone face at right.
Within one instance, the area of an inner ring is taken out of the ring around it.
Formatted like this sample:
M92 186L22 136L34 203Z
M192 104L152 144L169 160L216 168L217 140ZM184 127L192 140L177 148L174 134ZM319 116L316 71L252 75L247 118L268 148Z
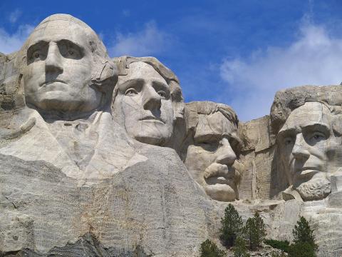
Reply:
M324 104L307 102L291 112L279 133L288 129L304 128L313 124L322 124L330 127L331 116L331 111Z

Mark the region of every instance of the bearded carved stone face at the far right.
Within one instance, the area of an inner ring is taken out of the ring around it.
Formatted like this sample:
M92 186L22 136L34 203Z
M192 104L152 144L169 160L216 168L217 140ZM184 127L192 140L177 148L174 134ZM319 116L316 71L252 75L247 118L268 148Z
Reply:
M333 132L332 118L328 107L308 102L291 112L278 133L289 184L304 201L327 196L329 178L342 166L341 137Z

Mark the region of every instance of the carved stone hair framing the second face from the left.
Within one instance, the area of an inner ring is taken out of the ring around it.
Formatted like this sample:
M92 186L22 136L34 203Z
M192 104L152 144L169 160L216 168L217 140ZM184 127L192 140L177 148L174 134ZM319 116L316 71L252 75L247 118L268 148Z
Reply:
M153 69L155 69L155 71L157 71L157 73L159 73L160 76L165 79L167 85L170 86L171 100L175 119L184 119L184 101L182 90L180 89L180 82L178 81L177 76L170 69L164 66L164 64L158 61L158 59L156 59L155 57L121 56L113 60L118 65L119 76L126 76L128 74L127 70L130 69L130 64L132 64L133 62L141 61L152 66ZM112 108L117 95L118 86L115 86L113 92Z

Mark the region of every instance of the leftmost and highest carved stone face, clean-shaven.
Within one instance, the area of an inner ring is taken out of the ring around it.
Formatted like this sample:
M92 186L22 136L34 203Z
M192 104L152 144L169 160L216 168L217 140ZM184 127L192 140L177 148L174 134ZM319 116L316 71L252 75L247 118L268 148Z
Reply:
M28 39L24 70L26 103L45 111L91 111L102 94L88 86L93 60L78 24L48 21Z

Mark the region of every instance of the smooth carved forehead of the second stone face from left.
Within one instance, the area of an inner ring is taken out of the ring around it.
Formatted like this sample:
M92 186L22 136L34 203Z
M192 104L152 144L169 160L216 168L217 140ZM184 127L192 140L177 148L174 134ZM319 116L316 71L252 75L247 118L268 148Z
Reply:
M147 81L160 81L167 85L167 81L152 67L142 61L136 61L128 66L127 75L119 76L119 83L124 83L130 79L144 79Z

